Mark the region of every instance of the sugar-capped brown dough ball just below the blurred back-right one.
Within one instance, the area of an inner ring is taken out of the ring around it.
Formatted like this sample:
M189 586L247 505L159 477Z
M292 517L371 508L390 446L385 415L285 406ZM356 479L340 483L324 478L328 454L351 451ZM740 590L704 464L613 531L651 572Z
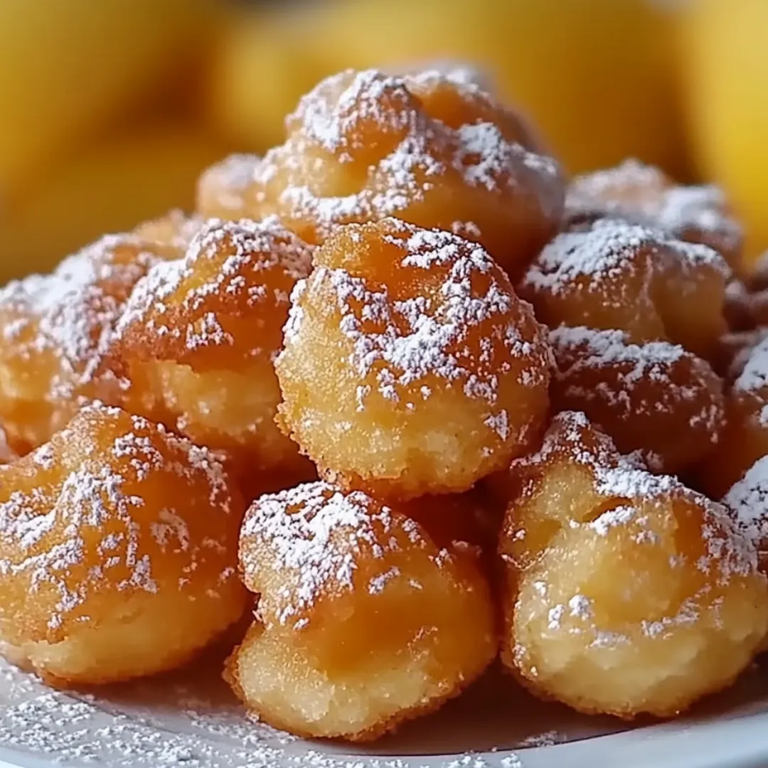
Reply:
M707 359L727 331L730 270L711 248L621 220L558 235L531 264L518 293L550 327L627 331L638 343L680 344Z

